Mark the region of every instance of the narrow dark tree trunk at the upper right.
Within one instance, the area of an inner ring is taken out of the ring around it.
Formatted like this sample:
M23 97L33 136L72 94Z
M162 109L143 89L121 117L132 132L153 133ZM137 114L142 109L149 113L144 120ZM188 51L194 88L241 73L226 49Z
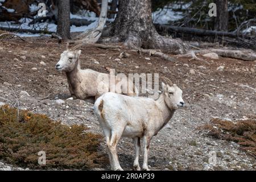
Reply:
M228 31L228 0L215 0L217 5L217 16L215 17L214 30Z

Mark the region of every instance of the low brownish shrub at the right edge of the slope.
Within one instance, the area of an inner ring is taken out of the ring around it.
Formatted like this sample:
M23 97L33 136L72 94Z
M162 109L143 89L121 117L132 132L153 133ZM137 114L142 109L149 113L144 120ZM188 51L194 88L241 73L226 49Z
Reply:
M199 127L207 130L208 135L240 144L241 149L256 157L256 120L247 119L237 122L212 119L210 123Z

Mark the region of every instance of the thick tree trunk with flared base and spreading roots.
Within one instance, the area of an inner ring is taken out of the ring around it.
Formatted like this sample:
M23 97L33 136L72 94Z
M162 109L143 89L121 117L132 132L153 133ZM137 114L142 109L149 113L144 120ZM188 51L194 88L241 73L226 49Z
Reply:
M108 40L124 42L131 48L185 52L185 44L181 40L168 39L156 32L152 23L151 0L119 0L117 18L106 32L113 36Z

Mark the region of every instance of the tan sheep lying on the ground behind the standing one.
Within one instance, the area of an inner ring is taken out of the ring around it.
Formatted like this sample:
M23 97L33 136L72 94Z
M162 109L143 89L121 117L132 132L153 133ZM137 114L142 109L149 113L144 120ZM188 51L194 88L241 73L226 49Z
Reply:
M67 49L60 55L60 60L56 64L57 71L63 71L68 78L69 92L72 97L80 98L82 100L89 97L100 97L101 94L110 92L110 75L106 73L100 73L93 71L92 69L81 69L79 56L81 50ZM138 96L138 90L134 86L133 81L123 80L117 76L114 76L114 86L119 86L119 89L115 89L114 92L120 94L127 94L128 96ZM121 87L120 87L121 85ZM127 89L125 86L127 85ZM117 87L118 87L117 86ZM104 87L105 90L101 90ZM128 92L129 91L129 92Z

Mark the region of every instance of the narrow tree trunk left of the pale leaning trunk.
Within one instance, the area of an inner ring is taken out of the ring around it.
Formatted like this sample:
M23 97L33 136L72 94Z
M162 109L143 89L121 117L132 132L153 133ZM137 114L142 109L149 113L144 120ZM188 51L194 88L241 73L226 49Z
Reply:
M57 20L57 35L60 35L63 40L70 39L70 5L69 0L57 2L58 20Z

